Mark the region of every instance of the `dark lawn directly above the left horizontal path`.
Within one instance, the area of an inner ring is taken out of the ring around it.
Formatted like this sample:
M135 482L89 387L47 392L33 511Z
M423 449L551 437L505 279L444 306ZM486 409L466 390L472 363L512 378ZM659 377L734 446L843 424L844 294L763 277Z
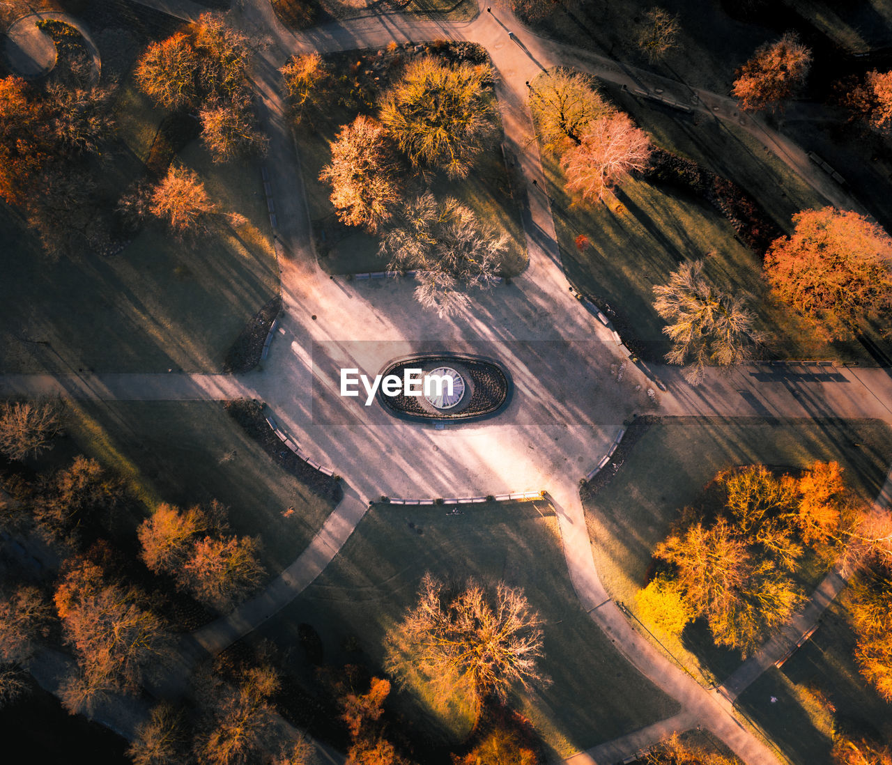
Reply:
M118 113L119 143L100 169L111 207L142 174L163 116L131 86L122 90ZM194 243L149 225L117 255L53 261L0 206L3 371L222 367L237 334L278 290L260 168L256 160L214 164L197 142L178 159L196 170L219 210L246 222L231 226L219 216L213 234Z

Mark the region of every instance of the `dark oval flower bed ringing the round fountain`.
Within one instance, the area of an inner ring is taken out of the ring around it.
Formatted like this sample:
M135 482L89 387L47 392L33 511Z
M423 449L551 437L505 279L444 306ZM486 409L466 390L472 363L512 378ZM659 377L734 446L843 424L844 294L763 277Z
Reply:
M467 405L459 405L459 411L448 409L432 411L422 406L420 397L405 396L402 393L397 396L384 396L379 392L378 399L384 408L390 409L397 415L405 415L413 419L467 420L495 414L508 401L508 393L511 390L508 377L498 366L482 359L463 356L409 358L389 366L384 370L384 376L396 374L402 377L403 369L419 366L425 369L434 369L437 366L456 366L460 374L470 378L468 382L472 390Z

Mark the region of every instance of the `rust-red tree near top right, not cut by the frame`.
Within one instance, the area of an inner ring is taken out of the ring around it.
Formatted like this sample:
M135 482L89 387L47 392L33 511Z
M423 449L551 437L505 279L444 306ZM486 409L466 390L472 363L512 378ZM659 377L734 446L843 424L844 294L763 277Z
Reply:
M805 85L812 65L812 52L787 34L776 43L766 43L737 70L731 89L746 111L776 109Z

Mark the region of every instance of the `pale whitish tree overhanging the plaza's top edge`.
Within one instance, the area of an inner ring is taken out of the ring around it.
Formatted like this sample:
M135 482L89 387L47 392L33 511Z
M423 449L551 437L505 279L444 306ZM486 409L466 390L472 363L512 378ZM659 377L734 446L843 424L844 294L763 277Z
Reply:
M417 269L415 297L440 317L467 308L467 290L491 285L508 236L479 221L458 200L424 193L408 202L381 242L392 270Z

